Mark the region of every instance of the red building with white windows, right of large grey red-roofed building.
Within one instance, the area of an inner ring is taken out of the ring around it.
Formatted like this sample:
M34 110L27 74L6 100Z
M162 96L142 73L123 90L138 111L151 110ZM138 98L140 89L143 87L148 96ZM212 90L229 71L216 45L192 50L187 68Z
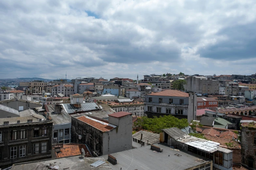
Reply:
M213 97L197 97L197 109L210 109L215 111L218 107L218 100Z

